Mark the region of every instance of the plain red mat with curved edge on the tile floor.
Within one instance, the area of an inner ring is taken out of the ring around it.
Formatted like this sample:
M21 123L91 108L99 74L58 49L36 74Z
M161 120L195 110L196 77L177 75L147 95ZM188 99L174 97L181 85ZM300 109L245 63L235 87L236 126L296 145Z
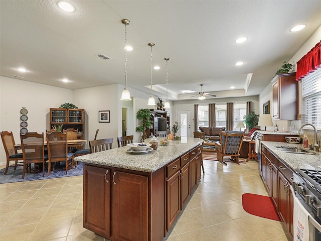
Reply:
M280 221L271 197L244 193L242 206L246 212L252 215Z

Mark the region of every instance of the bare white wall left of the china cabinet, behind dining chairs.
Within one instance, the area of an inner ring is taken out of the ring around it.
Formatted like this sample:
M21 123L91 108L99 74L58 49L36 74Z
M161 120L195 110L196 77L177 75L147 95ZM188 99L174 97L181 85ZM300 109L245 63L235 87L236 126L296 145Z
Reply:
M28 131L46 133L49 108L65 102L73 102L70 89L0 76L0 131L13 132L16 143L20 143L20 109L24 106L28 110ZM73 103L79 106L77 102ZM6 153L1 141L0 163L5 162Z

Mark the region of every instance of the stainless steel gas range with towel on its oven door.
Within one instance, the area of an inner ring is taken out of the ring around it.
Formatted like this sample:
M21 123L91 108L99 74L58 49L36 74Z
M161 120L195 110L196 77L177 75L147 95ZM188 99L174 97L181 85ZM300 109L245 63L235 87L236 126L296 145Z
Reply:
M296 219L293 218L294 240L321 240L321 170L296 169L293 173L291 189L294 205L297 198L301 208L306 210L303 212L307 214L305 221L308 225L308 235L305 235L308 238L304 238L304 236L302 238L300 223L295 223ZM294 210L298 209L294 208ZM305 215L303 216L305 217Z

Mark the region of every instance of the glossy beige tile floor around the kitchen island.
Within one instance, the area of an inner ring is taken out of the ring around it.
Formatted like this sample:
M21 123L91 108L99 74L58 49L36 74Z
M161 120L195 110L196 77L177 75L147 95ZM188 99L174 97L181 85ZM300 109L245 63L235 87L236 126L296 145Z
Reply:
M242 208L243 193L267 195L255 161L226 167L204 160L204 167L168 241L287 241L280 222ZM82 227L82 182L76 176L0 184L0 240L104 240Z

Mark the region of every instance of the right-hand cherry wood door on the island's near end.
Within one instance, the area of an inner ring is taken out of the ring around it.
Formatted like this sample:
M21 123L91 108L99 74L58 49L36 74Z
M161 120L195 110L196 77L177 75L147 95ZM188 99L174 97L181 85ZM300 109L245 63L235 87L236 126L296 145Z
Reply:
M148 177L114 171L112 240L148 240Z

